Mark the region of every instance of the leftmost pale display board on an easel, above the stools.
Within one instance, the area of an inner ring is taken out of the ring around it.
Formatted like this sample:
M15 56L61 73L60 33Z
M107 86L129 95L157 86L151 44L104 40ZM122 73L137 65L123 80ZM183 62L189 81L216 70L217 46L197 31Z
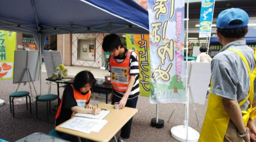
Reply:
M13 84L28 82L26 69L31 73L30 81L39 80L39 62L40 56L38 50L15 50L14 52L14 70Z

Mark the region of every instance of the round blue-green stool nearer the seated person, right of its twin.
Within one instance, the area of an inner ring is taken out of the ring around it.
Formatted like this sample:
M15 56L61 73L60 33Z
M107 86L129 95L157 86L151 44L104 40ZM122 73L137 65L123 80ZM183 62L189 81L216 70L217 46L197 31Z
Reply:
M59 98L57 95L54 94L47 94L47 95L42 95L35 100L35 113L37 116L37 101L46 101L46 111L47 111L47 122L48 122L48 113L51 113L51 101L56 100ZM48 103L49 103L49 109L48 109ZM48 112L49 110L49 112ZM37 116L38 119L38 116Z

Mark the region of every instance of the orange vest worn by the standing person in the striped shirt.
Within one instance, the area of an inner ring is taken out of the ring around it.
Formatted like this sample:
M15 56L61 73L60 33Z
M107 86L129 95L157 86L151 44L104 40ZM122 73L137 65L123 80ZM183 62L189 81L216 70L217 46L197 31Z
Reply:
M134 52L134 50L128 49L126 57L122 63L117 63L113 55L111 55L109 58L111 84L113 88L119 92L126 92L128 88L130 81L130 59L132 52Z

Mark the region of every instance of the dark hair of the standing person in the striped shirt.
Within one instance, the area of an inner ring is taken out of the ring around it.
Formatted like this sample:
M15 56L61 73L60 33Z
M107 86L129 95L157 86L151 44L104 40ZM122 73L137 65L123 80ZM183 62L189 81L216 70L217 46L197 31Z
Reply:
M111 33L103 39L102 48L104 52L112 52L113 50L118 49L119 46L123 47L123 44L119 36L115 33Z

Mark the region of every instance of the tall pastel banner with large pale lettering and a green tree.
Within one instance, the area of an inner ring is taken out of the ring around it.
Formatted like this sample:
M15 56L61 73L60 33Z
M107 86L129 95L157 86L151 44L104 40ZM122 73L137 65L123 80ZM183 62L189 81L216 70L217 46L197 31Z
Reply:
M184 0L148 0L150 103L183 103Z

